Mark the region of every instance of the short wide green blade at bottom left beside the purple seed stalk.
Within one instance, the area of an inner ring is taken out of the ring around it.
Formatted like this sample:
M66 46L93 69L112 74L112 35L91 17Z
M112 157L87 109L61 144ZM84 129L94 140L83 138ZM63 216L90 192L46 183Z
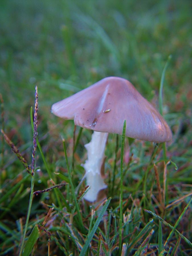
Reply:
M22 256L28 256L30 255L32 249L33 249L33 246L34 244L36 243L36 241L38 240L39 238L39 235L40 235L40 232L39 232L39 229L38 229L38 226L35 225L25 246L24 246L24 249L23 249L23 252L22 252Z

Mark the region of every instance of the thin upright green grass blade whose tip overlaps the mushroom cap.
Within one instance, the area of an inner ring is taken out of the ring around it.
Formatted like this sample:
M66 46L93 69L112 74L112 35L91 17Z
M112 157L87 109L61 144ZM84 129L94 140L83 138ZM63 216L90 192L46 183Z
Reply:
M123 222L123 154L124 154L124 144L125 144L125 131L126 131L126 120L123 123L123 132L121 139L121 181L120 181L120 215L119 215L119 255L121 255L122 247L122 222Z

